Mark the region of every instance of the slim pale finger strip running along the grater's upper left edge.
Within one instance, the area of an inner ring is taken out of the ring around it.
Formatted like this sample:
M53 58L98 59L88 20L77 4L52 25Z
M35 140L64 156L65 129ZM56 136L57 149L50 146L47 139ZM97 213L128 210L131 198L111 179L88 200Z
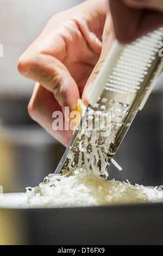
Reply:
M111 15L109 14L106 17L106 22L105 22L105 27L104 27L103 40L102 40L102 53L101 53L101 56L99 57L99 60L96 64L95 68L92 71L92 74L89 77L89 80L87 81L87 83L85 85L84 92L82 95L85 105L89 104L89 100L88 100L89 91L92 87L93 82L96 80L96 77L97 77L99 71L102 68L102 65L105 61L106 56L109 53L109 50L110 50L111 45L114 42L114 40L115 40L114 28L112 25Z

